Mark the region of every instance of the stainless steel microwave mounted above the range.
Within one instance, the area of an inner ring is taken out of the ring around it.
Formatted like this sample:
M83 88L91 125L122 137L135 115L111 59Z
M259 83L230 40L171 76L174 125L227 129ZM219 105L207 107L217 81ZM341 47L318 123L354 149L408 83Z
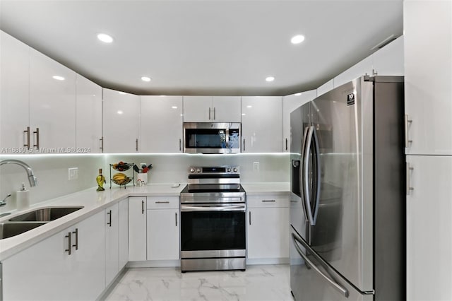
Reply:
M184 122L184 153L240 153L239 122Z

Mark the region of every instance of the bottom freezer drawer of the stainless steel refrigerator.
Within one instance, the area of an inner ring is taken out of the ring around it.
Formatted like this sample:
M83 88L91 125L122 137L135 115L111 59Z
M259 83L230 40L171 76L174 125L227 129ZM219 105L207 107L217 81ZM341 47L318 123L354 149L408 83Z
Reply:
M291 230L291 244L297 251L297 254L290 255L290 288L295 300L373 300L373 295L356 290L328 264L307 252L300 243L302 238L293 228ZM296 256L299 256L299 260L295 260Z

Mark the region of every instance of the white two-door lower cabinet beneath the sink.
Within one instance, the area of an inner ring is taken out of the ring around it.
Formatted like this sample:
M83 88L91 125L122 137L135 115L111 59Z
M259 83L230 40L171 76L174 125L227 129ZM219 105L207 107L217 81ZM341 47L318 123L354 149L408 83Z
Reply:
M94 300L105 289L104 222L97 213L5 259L3 300Z

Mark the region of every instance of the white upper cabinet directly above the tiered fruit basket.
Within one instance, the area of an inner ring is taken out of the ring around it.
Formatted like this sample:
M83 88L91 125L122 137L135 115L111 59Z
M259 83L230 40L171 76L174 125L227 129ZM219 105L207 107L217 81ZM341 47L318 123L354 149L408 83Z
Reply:
M102 89L104 153L138 153L140 96Z

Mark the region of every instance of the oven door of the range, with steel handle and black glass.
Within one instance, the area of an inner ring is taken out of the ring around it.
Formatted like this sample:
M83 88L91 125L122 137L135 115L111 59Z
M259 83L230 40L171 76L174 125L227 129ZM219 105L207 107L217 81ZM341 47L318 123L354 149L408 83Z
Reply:
M181 257L245 256L245 203L181 204Z

